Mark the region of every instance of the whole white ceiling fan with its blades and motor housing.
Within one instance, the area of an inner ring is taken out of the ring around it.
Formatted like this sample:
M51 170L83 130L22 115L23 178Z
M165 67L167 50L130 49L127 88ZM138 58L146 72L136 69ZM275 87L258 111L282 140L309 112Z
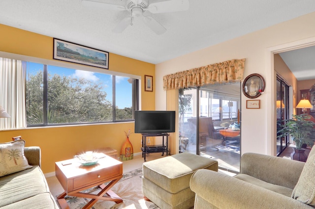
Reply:
M152 2L151 2L152 1ZM125 6L100 2L97 0L82 0L85 6L92 6L115 11L129 11L131 14L125 17L114 29L113 32L121 33L127 26L133 25L134 18L142 18L145 25L150 27L158 35L164 33L166 28L156 21L147 11L156 13L185 11L189 8L189 0L126 0Z

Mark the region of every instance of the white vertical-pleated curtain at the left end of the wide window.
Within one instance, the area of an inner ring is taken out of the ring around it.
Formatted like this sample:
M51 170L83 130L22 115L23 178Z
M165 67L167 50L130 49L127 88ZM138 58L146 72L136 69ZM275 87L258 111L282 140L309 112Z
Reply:
M1 130L26 127L23 69L26 69L25 62L0 57L0 105L11 116L0 120Z

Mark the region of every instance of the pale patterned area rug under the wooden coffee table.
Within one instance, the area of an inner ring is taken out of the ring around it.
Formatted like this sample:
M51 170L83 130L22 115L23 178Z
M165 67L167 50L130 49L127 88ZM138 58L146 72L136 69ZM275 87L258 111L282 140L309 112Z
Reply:
M98 200L92 209L159 209L154 203L143 199L142 194L142 168L123 175L111 190L123 199L122 203ZM98 186L87 189L84 192L96 194L100 191ZM70 209L82 209L91 199L81 197L64 197Z

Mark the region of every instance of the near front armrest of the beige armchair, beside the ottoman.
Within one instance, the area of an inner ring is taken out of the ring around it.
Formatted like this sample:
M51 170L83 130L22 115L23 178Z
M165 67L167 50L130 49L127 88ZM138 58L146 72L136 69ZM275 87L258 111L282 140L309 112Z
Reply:
M197 209L313 208L293 198L206 169L193 173L190 178L190 189L196 193L194 208ZM204 201L199 201L199 197Z

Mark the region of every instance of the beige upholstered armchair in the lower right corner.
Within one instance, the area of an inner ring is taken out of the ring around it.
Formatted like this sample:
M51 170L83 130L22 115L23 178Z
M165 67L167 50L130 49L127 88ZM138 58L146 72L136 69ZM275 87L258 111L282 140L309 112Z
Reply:
M315 149L306 163L246 153L240 174L197 170L190 179L195 209L304 209L315 206Z

